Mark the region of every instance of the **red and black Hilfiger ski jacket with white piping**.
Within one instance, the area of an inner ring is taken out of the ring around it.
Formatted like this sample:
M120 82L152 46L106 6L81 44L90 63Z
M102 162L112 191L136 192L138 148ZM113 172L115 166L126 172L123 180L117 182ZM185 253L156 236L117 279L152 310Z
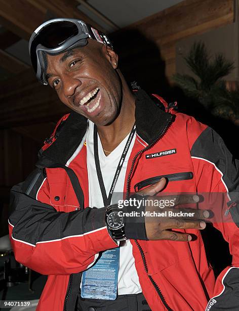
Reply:
M219 135L158 99L166 111L143 90L136 94L136 140L125 192L168 176L163 193L235 196L239 165ZM99 252L117 247L107 232L105 208L87 207L86 131L86 118L74 112L64 116L41 150L37 168L12 189L9 230L16 260L48 275L38 311L72 311L81 272ZM196 237L190 242L131 240L139 282L152 310L239 309L239 210L236 203L231 206L229 213L227 204L216 207L217 213L228 214L229 221L213 225L233 257L216 281L198 230L178 230Z

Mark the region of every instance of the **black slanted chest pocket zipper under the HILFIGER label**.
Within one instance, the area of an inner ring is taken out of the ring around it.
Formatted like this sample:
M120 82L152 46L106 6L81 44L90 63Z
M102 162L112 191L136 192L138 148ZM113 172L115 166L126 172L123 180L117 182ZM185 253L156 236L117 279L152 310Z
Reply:
M166 177L169 181L177 181L177 180L187 180L193 178L192 172L182 172L182 173L174 173L174 174L166 174L166 175L160 175L155 177L150 177L147 179L144 179L134 185L134 190L139 191L141 188L146 187L149 184L153 184L157 181L160 181L162 177Z

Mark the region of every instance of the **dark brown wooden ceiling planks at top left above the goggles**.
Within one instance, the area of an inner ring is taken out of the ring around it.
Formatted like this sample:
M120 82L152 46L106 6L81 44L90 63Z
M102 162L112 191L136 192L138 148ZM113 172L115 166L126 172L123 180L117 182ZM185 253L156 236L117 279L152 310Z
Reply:
M0 23L17 36L29 40L32 32L49 19L49 12L55 17L82 19L105 31L91 18L79 11L74 0L0 0Z

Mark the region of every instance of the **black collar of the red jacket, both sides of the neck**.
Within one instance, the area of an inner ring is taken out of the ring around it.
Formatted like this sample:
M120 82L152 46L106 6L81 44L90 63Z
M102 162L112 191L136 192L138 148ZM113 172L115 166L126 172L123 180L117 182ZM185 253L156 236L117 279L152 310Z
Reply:
M172 115L160 109L144 90L135 92L136 132L148 144L151 144L163 131ZM57 140L41 154L38 167L65 165L87 131L87 118L71 112L62 127Z

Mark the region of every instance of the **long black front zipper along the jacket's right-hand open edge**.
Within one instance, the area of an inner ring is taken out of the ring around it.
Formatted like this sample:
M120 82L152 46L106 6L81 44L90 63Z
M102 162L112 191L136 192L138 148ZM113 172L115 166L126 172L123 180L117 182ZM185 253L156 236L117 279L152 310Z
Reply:
M151 142L151 144L149 144L147 147L145 147L144 149L138 151L132 161L132 165L131 165L131 169L130 169L130 172L129 172L129 175L127 177L127 182L126 182L126 198L129 199L129 196L130 196L130 178L131 178L131 175L133 173L133 170L134 170L134 165L135 165L135 162L139 156L139 154L141 154L142 152L150 149L158 140L160 140L164 134L166 133L166 131L168 130L169 126L171 125L172 123L172 120L173 120L173 116L171 115L171 117L167 120L167 123L165 125L165 127L162 129L162 131L160 131L160 133L158 134L158 136ZM138 240L135 240L135 243L137 245L137 247L139 248L139 252L141 254L141 257L142 257L142 260L143 260L143 264L144 264L144 269L148 275L148 266L147 266L147 262L146 262L146 258L145 258L145 255L144 255L144 252L142 250L142 247L141 245L139 244ZM154 279L152 278L151 275L148 275L148 278L150 279L150 282L152 283L153 287L155 288L158 296L160 296L160 299L161 301L163 302L164 306L166 307L166 309L168 311L173 311L173 309L168 305L167 301L165 300L160 288L158 287L158 285L156 284L156 282L154 281Z

